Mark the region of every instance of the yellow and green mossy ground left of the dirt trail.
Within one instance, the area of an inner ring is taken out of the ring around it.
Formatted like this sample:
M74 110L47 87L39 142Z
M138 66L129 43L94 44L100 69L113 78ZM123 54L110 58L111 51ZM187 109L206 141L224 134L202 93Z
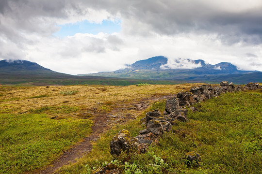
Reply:
M153 96L161 97L186 91L194 85L197 84L138 87L1 86L0 173L32 172L50 164L63 151L92 133L93 118L99 114L111 114L114 108L129 107ZM134 110L122 112L135 113L134 116L139 113ZM129 129L133 125L128 123L124 127ZM137 134L140 128L141 126L133 128L136 131L131 131L131 135ZM102 139L109 141L117 131L118 128L109 131ZM98 142L96 146L106 148L103 142ZM98 153L108 157L107 151Z

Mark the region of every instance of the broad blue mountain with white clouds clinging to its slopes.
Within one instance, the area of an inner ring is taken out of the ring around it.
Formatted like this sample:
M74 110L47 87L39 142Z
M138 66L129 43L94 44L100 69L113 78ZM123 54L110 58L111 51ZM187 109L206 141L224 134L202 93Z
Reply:
M241 71L229 62L221 62L211 65L201 59L192 60L178 58L172 61L169 61L164 56L157 56L136 61L131 65L127 65L125 69L120 69L114 72L80 74L80 76L95 75L103 77L176 80L183 82L204 83L217 83L226 79L231 79L231 81L239 84L251 81L262 82L261 72Z

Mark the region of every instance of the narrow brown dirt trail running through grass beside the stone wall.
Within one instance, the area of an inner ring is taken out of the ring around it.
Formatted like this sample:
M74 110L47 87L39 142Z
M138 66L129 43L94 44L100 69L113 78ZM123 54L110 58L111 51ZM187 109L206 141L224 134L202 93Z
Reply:
M82 142L77 143L56 161L54 161L50 166L43 170L34 171L34 174L53 174L62 166L74 163L77 159L80 159L83 155L92 150L92 141L96 141L101 133L106 132L108 129L116 124L125 124L131 119L135 119L136 116L140 115L144 110L146 110L153 102L161 101L163 99L168 99L174 97L175 95L168 96L152 96L150 98L145 98L139 102L133 102L130 104L117 104L110 113L94 113L94 124L92 126L92 133L83 139ZM131 110L132 114L124 115L124 111Z

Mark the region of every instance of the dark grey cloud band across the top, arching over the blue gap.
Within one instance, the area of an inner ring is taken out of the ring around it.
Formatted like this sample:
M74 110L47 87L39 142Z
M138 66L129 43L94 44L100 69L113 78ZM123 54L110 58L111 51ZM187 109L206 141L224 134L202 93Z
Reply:
M217 5L204 0L1 0L0 14L10 23L9 27L41 35L50 35L57 30L55 21L48 18L66 19L71 15L70 11L83 15L88 13L87 8L93 8L120 14L123 28L129 34L193 32L217 34L225 44L262 43L262 3L233 11L234 6L238 8L238 3L247 2L223 2ZM0 29L7 37L17 35L3 27Z

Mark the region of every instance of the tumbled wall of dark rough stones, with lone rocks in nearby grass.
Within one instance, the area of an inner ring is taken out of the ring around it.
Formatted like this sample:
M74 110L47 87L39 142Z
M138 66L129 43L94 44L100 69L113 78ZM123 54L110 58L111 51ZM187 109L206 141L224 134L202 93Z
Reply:
M176 125L177 121L188 121L187 109L191 105L206 101L213 97L218 97L226 92L237 92L245 90L261 89L258 83L248 83L246 86L234 85L232 82L221 82L220 86L212 87L211 85L202 85L192 87L190 92L179 92L176 97L166 100L165 111L163 114L158 109L150 111L146 117L142 119L145 122L147 129L141 130L140 135L132 138L130 132L121 130L110 142L110 153L113 156L119 156L122 152L132 152L133 154L147 152L148 146L152 143L157 143L158 137L164 132L171 131L172 125ZM197 108L190 107L192 111L197 111ZM201 157L197 152L187 152L181 158L187 166L198 166ZM110 165L110 164L108 164ZM105 170L106 167L95 174L115 174L114 171ZM115 170L115 169L114 169Z

